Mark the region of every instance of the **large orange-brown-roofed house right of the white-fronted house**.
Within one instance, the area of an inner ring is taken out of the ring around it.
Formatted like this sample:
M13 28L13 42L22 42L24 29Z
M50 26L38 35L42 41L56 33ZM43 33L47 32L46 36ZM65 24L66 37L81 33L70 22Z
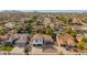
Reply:
M74 45L74 37L70 34L63 34L56 36L57 45Z

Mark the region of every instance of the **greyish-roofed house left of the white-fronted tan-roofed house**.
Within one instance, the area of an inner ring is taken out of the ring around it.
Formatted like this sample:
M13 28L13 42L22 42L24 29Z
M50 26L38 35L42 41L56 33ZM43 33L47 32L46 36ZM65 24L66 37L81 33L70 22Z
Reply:
M24 46L28 41L29 34L11 34L9 40L7 40L6 44L15 45L15 46Z

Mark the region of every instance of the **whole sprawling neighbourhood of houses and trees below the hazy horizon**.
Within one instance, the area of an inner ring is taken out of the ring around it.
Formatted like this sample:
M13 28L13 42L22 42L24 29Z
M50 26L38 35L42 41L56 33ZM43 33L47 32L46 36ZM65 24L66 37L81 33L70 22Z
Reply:
M0 12L0 55L87 54L87 12Z

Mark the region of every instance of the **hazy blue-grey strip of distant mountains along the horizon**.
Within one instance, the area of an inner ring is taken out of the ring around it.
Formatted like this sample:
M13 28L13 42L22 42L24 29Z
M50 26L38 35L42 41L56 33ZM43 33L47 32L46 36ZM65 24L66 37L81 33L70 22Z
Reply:
M0 13L23 13L23 12L40 12L40 13L87 13L87 10L2 10Z

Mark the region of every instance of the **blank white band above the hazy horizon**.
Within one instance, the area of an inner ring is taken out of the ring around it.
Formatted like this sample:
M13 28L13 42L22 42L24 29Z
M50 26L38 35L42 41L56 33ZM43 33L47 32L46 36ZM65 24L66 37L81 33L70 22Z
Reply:
M0 10L87 10L87 0L0 0Z

